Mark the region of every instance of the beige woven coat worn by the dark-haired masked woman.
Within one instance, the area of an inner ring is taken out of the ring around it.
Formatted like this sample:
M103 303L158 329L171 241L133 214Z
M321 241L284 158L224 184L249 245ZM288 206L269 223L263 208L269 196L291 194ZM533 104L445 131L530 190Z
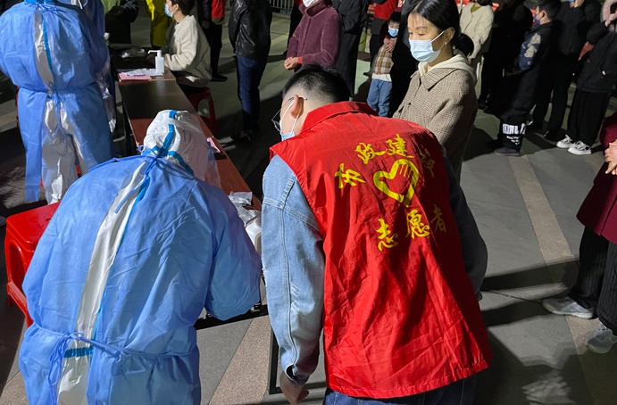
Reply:
M461 58L456 55L450 61ZM463 66L462 63L466 65L464 59L459 63L442 62L422 75L420 67L413 73L407 95L394 114L395 118L413 121L435 134L439 144L446 148L446 156L459 179L463 154L478 112L475 79L469 65L467 69L456 66Z

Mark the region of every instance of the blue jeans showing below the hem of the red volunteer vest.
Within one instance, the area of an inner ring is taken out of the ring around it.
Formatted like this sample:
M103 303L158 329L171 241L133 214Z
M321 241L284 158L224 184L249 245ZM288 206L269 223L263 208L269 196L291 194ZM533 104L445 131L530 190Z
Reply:
M471 405L475 386L476 376L470 376L427 393L388 400L354 398L328 388L323 403L324 405Z

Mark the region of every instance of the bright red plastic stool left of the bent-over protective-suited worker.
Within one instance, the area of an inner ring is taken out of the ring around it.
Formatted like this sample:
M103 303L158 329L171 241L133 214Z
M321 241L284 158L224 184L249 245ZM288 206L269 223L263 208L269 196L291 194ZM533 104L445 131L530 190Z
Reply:
M6 303L15 302L26 317L26 324L32 325L28 314L26 295L21 290L23 277L32 260L38 240L43 236L50 219L58 209L60 202L15 214L6 219L6 237L4 238L4 255L6 257Z

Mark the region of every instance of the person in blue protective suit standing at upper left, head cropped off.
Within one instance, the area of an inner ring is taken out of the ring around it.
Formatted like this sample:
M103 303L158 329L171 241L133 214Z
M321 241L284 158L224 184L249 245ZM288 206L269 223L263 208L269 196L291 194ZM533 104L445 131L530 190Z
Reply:
M26 200L62 199L82 174L113 157L97 79L109 61L104 37L85 12L54 0L26 0L0 17L0 70L20 87Z

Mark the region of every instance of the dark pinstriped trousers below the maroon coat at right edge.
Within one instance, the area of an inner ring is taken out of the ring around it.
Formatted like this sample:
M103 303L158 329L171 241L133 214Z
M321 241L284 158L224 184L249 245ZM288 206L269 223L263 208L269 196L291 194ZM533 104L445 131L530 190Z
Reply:
M579 276L568 295L585 308L596 307L598 318L617 335L617 244L586 227L579 255Z

